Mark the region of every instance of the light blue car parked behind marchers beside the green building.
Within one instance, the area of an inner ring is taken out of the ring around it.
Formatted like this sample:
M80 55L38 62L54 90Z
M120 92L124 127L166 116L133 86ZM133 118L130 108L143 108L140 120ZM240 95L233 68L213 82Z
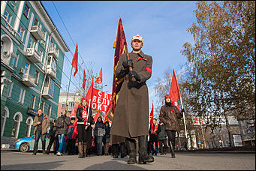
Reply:
M45 149L47 149L49 142L50 142L50 139L47 138L45 143ZM34 150L34 143L35 143L35 135L26 137L26 138L20 138L14 142L14 148L19 149L19 151L22 151L22 152L27 152L30 150L32 151ZM52 145L52 147L50 148L51 151L53 151L53 146L54 145ZM39 142L38 142L38 150L42 150L41 139L39 139Z

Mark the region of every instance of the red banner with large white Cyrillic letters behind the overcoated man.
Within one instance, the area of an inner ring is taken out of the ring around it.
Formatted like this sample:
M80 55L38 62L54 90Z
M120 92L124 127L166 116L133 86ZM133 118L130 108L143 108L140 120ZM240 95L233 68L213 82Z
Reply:
M111 98L112 95L93 88L91 102L92 110L107 112L109 106L111 105Z

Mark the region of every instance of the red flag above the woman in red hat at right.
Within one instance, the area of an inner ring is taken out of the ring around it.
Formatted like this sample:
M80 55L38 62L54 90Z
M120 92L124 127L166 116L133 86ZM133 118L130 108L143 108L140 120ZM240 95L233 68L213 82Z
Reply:
M179 109L179 105L178 105L178 100L180 98L179 83L177 81L174 69L173 69L172 82L170 84L170 97L172 98L171 101L173 105L175 105Z

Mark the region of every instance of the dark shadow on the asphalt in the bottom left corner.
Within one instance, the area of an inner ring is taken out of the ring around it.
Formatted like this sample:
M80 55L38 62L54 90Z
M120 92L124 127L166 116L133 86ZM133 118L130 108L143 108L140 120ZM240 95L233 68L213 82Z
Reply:
M38 169L55 169L62 165L62 163L65 162L65 160L62 161L53 161L53 162L47 162L47 163L24 163L24 164L10 164L10 165L1 165L1 170L38 170Z

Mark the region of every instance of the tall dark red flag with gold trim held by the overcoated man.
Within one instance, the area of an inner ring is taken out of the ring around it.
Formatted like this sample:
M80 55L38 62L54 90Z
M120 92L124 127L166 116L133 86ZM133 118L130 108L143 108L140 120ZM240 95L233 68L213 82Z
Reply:
M113 48L115 48L115 56L114 56L114 71L113 71L113 88L112 88L112 108L109 118L113 118L113 114L116 108L117 97L119 95L119 91L121 89L123 78L118 79L115 75L116 66L119 62L120 56L125 52L125 46L127 45L125 39L125 31L122 26L122 20L119 18L118 27L116 31L116 40L113 44Z

